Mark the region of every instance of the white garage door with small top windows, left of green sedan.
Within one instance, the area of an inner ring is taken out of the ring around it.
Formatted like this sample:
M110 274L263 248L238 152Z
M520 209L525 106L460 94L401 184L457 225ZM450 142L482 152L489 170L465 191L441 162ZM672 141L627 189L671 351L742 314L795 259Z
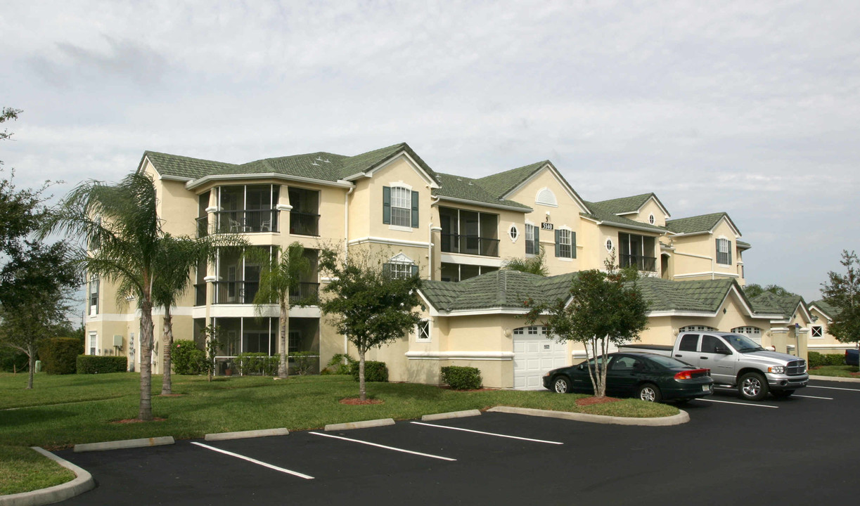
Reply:
M541 390L544 374L568 365L568 345L548 339L543 326L513 330L513 387Z

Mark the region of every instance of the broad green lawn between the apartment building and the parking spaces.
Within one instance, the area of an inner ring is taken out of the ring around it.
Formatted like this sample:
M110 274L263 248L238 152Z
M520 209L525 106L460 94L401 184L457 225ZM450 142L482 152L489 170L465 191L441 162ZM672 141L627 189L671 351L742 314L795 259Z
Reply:
M278 427L308 430L326 424L375 418L404 420L495 405L638 418L679 412L673 405L638 399L580 407L576 399L587 396L575 393L456 392L411 383L368 383L368 396L382 400L382 404L343 405L341 399L358 396L359 386L350 376L337 375L293 376L278 381L231 376L212 382L203 376L174 375L173 391L181 394L176 397L158 395L161 381L160 375L152 376L152 411L164 420L117 424L118 420L138 416L138 374L39 374L34 389L25 390L27 375L0 373L0 475L4 477L0 494L35 490L72 478L62 471L58 476L52 461L22 448L29 446L58 449L83 442L156 436L186 439L211 432Z

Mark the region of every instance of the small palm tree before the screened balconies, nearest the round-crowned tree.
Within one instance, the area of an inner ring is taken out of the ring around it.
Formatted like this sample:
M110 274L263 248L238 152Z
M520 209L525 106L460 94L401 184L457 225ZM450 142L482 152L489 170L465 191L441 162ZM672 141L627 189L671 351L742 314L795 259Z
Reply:
M261 251L259 248L250 248L249 258L261 265L260 290L254 296L254 305L257 314L262 314L266 304L277 301L280 314L278 317L280 337L280 364L278 376L286 378L287 375L287 340L286 326L290 318L290 292L295 291L302 282L302 277L310 273L310 260L304 256L304 247L298 242L293 242L286 250L277 247L272 254ZM302 305L304 301L296 305Z

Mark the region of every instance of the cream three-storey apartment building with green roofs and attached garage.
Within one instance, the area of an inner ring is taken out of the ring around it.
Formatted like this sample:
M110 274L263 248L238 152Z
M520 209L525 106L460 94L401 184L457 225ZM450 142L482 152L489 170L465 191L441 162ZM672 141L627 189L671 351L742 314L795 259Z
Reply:
M146 151L137 170L155 181L163 229L173 235L230 232L270 251L301 243L315 267L296 300L325 283L316 270L321 247L383 255L394 275L418 272L427 280L421 326L370 354L388 364L392 381L438 383L439 368L456 364L482 369L488 387L534 387L541 371L582 351L550 341L543 327L524 326L521 297L564 296L577 271L603 268L613 254L646 276L648 342L668 342L690 326L746 329L765 343L782 342L771 339L771 327L782 325L783 313L757 312L740 290L741 254L750 245L728 214L672 219L654 193L590 202L550 161L472 179L437 173L400 143L353 156L318 152L244 164ZM500 271L506 259L542 249L550 277ZM238 353L277 354L279 308L260 313L251 303L259 276L258 265L229 249L200 265L172 311L175 338L200 341L205 326L219 326L229 343L219 359L224 368ZM679 300L690 307L676 307ZM350 351L319 308L289 312L290 352L312 351L324 366ZM154 316L158 336L162 317ZM133 353L139 361L135 301L118 304L113 287L97 279L89 280L87 334L87 353ZM152 359L157 373L160 348Z

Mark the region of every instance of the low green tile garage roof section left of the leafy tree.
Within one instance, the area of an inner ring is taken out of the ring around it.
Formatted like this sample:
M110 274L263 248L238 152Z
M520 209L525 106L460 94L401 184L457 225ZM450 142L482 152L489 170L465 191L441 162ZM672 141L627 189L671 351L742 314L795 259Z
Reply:
M425 281L421 294L433 308L458 310L508 309L525 312L525 302L554 302L568 295L570 282L578 273L541 277L520 271L488 272L459 283Z

